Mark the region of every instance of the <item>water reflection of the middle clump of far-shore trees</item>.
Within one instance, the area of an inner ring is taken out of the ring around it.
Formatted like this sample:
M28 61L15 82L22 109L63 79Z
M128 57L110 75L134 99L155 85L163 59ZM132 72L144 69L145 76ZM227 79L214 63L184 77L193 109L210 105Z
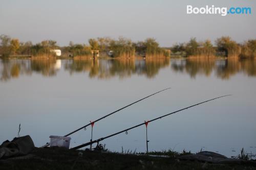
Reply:
M169 58L158 59L80 59L70 60L65 64L65 69L73 72L87 72L91 78L108 79L111 77L126 78L133 74L146 75L152 78L158 74L160 68L169 65Z

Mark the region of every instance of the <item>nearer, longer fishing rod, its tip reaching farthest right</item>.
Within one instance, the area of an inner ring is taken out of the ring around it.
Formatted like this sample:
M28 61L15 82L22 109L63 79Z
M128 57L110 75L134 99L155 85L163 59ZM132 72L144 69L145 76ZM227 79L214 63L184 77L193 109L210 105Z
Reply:
M131 129L137 128L137 127L142 126L142 125L147 125L148 123L153 122L153 121L155 121L155 120L157 120L157 119L163 118L163 117L165 117L165 116L168 116L168 115L171 115L171 114L180 112L180 111L182 111L182 110L185 110L185 109L188 109L188 108L197 106L197 105L201 105L201 104L206 103L206 102L209 102L209 101L213 101L213 100L216 100L216 99L219 99L219 98L223 98L223 97L229 96L229 95L231 95L231 94L222 95L222 96L219 96L218 98L210 99L210 100L207 100L207 101L204 101L204 102L201 102L201 103L198 103L198 104L195 104L195 105L191 105L191 106L188 106L188 107L186 107L186 108L183 108L183 109L174 111L174 112L172 112L172 113L168 113L168 114L162 115L162 116L157 117L157 118L154 118L154 119L152 119L152 120L148 120L147 122L144 122L144 123L142 123L142 124L139 124L139 125L136 125L136 126L134 126L134 127L131 127L131 128L122 130L122 131L120 131L120 132L114 133L114 134L112 134L112 135L109 135L109 136L106 136L106 137L102 137L102 138L99 138L99 139L97 139L97 140L93 140L93 141L90 141L90 142L87 142L87 143L78 145L77 147L71 148L71 150L77 150L77 149L86 147L86 146L88 146L88 145L91 145L91 144L93 144L93 143L99 143L99 141L101 141L101 140L104 140L104 139L106 139L106 138L110 138L110 137L112 137L112 136L118 135L118 134L123 133L123 132L126 133L127 131L129 131L129 130L131 130Z

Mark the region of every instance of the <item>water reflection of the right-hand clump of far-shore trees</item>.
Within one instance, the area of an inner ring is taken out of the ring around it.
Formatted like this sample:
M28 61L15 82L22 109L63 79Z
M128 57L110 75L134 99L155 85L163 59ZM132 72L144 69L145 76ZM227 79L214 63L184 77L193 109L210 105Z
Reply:
M210 76L215 72L217 78L229 79L232 75L244 72L247 76L256 76L256 59L183 59L172 60L174 71L184 72L191 78L197 75Z

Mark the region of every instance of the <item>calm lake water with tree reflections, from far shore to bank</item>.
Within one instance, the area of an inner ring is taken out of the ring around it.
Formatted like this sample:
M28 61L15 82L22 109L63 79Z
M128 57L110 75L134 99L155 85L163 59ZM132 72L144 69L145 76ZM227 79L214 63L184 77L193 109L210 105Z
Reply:
M256 60L31 60L0 63L0 142L31 135L36 147L146 95L172 87L95 123L93 139L215 98L148 124L148 149L256 153ZM71 135L88 142L91 127ZM101 141L111 151L146 151L145 126ZM95 144L94 144L95 146Z

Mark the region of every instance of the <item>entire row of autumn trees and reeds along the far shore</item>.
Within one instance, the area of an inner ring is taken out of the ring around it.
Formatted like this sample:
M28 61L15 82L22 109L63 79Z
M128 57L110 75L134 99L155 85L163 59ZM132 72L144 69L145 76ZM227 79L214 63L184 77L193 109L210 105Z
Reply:
M0 54L54 56L51 50L60 49L63 55L67 56L91 56L94 51L102 54L109 54L111 57L156 57L156 56L239 56L243 58L256 56L256 39L250 39L244 43L237 43L228 36L223 36L215 41L215 45L210 40L198 42L196 38L191 38L188 42L175 44L172 47L160 47L154 38L147 38L144 41L133 42L131 39L119 37L99 37L88 40L88 44L74 44L70 41L68 46L58 46L54 40L44 40L33 44L31 41L20 42L16 38L7 35L0 36Z

